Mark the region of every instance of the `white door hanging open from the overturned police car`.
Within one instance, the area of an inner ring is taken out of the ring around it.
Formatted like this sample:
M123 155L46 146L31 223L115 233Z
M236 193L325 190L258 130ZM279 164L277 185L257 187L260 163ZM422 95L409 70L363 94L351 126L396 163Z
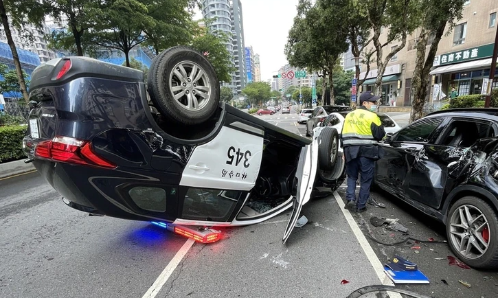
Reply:
M299 155L299 163L295 177L297 179L297 194L293 201L293 211L291 218L288 220L287 227L284 231L282 242L285 243L294 229L294 226L301 214L302 206L310 200L311 192L313 191L313 184L315 183L315 176L317 174L318 166L318 141L317 137L313 137L313 142L306 145L301 150Z

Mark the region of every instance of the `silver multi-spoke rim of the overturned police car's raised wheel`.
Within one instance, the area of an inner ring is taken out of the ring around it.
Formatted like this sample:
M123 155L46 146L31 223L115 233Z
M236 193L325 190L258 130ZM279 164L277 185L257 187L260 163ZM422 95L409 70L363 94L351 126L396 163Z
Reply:
M169 84L174 100L189 111L201 110L210 100L210 80L205 71L192 61L175 65Z

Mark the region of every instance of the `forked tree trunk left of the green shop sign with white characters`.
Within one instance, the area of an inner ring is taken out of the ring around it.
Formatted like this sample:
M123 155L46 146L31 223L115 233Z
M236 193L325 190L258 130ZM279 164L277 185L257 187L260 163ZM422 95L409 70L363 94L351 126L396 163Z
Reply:
M414 77L411 79L411 115L410 122L414 122L422 117L425 98L427 98L427 86L429 86L432 63L435 58L435 53L438 51L439 42L444 34L446 21L440 21L438 27L434 31L434 41L429 48L429 54L425 58L425 50L427 49L427 40L429 39L429 30L422 27L419 41L417 45L417 60L415 65ZM423 35L422 35L423 34ZM421 42L424 43L423 47Z

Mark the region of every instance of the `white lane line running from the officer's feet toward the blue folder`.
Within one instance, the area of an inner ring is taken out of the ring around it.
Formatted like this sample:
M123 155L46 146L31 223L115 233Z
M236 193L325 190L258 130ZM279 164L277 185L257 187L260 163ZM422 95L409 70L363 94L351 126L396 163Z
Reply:
M356 224L356 221L354 220L353 216L351 215L350 211L347 209L344 209L344 202L339 196L337 192L334 192L334 197L335 200L337 200L337 205L339 205L339 208L341 209L342 213L344 214L344 218L348 221L348 224L350 225L354 236L356 236L356 239L358 240L359 244L361 245L361 248L365 252L365 255L367 255L368 260L370 261L370 264L372 264L372 267L374 268L375 273L377 274L378 279L382 282L383 285L385 286L394 286L394 283L387 277L387 275L384 273L384 266L381 262L381 260L378 260L377 255L374 252L374 249L370 246L370 244L367 241L367 238L365 238L365 235L361 232L360 228ZM389 292L389 297L390 298L402 298L399 293L390 293Z

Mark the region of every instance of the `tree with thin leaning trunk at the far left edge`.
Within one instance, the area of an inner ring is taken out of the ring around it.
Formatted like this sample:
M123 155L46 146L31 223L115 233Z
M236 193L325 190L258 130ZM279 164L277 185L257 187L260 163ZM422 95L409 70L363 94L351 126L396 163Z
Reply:
M5 31L7 43L12 52L12 60L14 60L14 67L16 69L16 78L19 81L19 91L23 95L26 104L29 102L29 95L27 94L27 86L21 62L19 62L19 54L17 54L16 45L12 39L12 32L10 31L9 17L12 25L17 30L22 30L23 25L32 23L36 26L41 26L43 21L43 7L41 3L36 0L0 0L0 19Z

